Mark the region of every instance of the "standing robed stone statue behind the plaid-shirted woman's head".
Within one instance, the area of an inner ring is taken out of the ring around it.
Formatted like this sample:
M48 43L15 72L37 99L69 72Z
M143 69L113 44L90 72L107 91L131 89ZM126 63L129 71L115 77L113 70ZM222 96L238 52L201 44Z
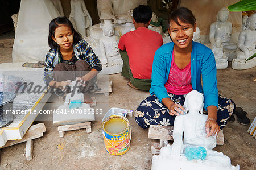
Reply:
M82 37L89 36L92 27L92 18L86 9L84 0L71 0L71 12L69 20L71 20L74 28Z

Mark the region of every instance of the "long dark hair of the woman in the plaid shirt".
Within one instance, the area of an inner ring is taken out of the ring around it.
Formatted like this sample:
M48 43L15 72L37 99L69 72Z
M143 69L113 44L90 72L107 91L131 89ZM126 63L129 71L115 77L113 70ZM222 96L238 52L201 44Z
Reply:
M48 45L49 47L51 47L51 49L59 47L59 45L55 41L53 41L52 36L55 35L55 29L60 26L67 26L71 28L71 31L74 32L74 44L78 43L82 39L81 34L79 34L79 32L75 30L75 28L73 27L70 20L68 20L68 18L66 18L65 16L57 17L55 19L52 19L49 23Z

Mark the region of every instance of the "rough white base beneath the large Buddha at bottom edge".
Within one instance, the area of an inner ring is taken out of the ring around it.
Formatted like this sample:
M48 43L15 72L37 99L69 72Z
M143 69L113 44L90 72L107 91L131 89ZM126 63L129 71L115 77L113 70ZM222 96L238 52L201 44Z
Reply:
M190 170L227 170L227 169L240 169L239 165L224 167L221 163L209 161L209 160L187 160L185 156L177 155L153 155L152 170L162 169L190 169Z

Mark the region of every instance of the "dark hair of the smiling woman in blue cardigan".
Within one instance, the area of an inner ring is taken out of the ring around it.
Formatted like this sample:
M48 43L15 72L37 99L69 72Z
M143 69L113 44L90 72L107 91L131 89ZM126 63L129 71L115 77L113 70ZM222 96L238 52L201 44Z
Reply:
M184 23L192 24L193 26L196 23L196 18L193 15L192 11L185 7L180 7L179 9L176 9L171 12L171 14L169 15L169 24L171 20L174 20L176 24L181 26L178 19Z

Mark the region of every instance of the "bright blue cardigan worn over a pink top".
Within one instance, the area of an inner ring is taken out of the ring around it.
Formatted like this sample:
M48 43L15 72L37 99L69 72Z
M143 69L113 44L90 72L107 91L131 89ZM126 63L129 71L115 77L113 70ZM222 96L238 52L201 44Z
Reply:
M169 97L164 85L169 77L173 49L174 43L171 42L162 45L155 52L150 94L155 94L159 101ZM204 89L201 84L201 78ZM216 64L213 52L205 47L205 45L193 41L191 52L191 84L193 90L204 93L205 110L211 105L218 107Z

